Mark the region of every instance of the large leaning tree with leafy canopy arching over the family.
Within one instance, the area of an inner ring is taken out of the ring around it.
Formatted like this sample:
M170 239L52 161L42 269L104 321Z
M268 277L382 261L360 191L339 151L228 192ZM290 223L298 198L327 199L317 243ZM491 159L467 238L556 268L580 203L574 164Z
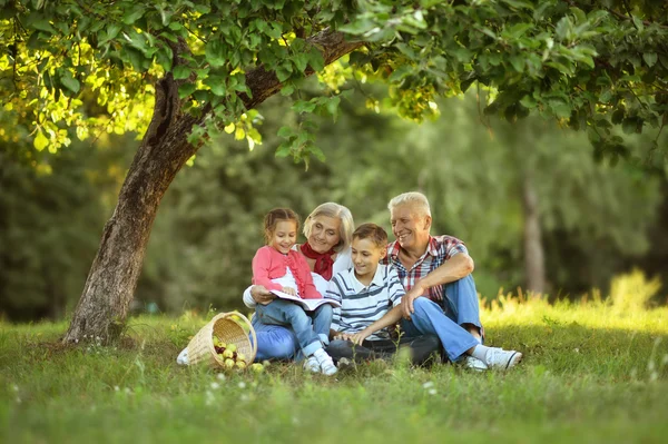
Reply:
M664 125L666 12L654 2L521 0L419 2L2 0L0 88L6 107L35 121L35 146L69 142L59 124L146 132L65 341L118 335L158 204L176 172L223 127L257 135L246 114L342 56L353 73L390 86L403 116L433 112L435 97L471 83L514 120L538 109L588 128L597 155L626 156L627 131ZM344 39L344 32L355 41ZM363 42L366 45L363 47ZM85 116L94 91L109 117ZM147 97L155 97L153 112ZM340 99L296 100L297 129L281 155L322 156L313 112ZM128 112L130 110L130 112ZM30 120L30 119L28 119ZM205 137L206 135L206 137ZM656 144L656 140L655 140ZM658 145L657 145L658 147Z

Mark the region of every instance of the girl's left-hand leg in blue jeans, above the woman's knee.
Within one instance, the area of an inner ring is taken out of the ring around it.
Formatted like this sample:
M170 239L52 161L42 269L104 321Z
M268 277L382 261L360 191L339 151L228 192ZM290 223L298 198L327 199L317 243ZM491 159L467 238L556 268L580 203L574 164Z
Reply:
M267 305L258 305L255 310L263 324L289 325L306 356L323 347L320 336L313 330L311 317L298 305L275 299Z

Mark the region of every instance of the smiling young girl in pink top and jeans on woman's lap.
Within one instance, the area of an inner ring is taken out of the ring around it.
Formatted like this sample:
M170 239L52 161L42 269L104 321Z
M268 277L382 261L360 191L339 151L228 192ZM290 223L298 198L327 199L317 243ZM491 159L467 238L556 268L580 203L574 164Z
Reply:
M264 231L267 245L259 248L253 258L253 284L303 299L320 299L322 295L313 285L306 259L293 249L297 241L298 228L299 219L292 209L276 208L265 216ZM325 306L330 307L328 304L323 305ZM307 357L307 369L325 375L336 373L332 357L323 349L321 337L314 332L313 319L301 306L276 298L267 305L258 304L256 315L263 324L292 327L302 352Z

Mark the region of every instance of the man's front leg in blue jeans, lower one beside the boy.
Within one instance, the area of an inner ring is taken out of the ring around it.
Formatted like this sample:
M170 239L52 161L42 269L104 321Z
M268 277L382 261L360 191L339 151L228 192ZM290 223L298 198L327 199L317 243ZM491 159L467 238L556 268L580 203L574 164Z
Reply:
M443 309L429 298L416 298L413 300L413 308L415 310L411 322L404 320L402 326L410 330L410 324L413 324L424 335L439 336L450 361L455 362L469 348L480 344L469 332L445 316Z

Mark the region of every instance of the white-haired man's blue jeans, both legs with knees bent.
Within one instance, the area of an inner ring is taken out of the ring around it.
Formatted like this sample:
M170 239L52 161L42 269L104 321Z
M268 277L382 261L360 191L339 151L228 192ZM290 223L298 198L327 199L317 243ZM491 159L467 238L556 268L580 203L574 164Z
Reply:
M478 293L471 275L444 286L442 305L419 297L413 300L411 320L402 319L401 327L407 336L436 335L451 362L462 357L469 348L480 343L464 329L472 324L482 330Z

